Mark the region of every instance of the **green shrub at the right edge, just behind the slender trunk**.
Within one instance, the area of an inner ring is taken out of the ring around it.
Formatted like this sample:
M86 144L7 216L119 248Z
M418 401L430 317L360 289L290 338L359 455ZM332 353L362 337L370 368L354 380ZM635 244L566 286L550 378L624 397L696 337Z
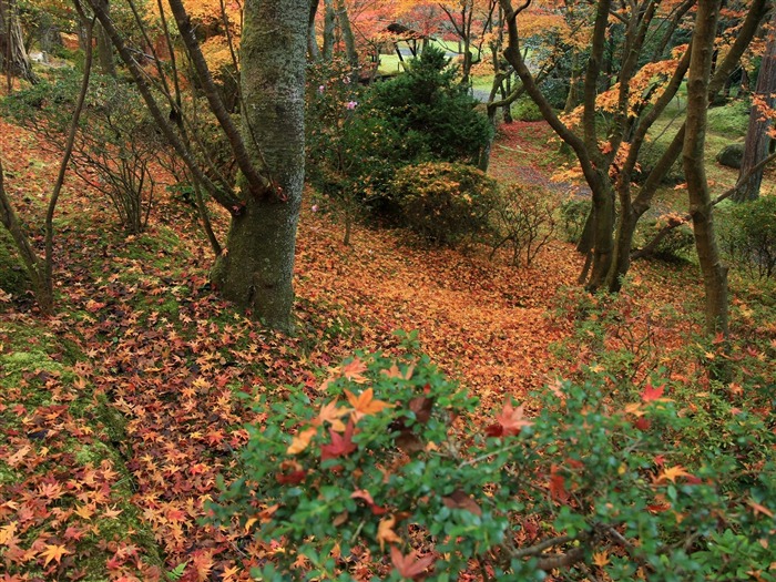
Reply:
M776 196L718 208L722 247L749 276L776 276Z

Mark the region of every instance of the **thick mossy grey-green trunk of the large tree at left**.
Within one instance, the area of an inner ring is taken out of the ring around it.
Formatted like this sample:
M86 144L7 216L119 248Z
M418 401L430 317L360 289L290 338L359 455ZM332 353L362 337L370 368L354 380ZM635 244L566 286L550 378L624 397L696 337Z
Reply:
M293 329L292 277L304 182L308 13L308 0L245 3L243 135L256 164L261 159L266 163L274 192L245 197L213 270L227 299L285 331Z

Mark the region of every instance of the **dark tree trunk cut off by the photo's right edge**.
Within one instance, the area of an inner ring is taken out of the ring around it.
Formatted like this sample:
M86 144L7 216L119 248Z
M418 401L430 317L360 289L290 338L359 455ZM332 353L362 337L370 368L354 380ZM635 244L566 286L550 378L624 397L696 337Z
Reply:
M763 54L763 63L757 76L757 86L754 95L762 100L766 108L773 109L776 105L776 12L772 18L772 28L768 44ZM768 130L772 123L765 118L764 112L758 106L752 108L749 113L749 127L746 131L746 144L744 146L744 159L741 163L738 177L745 176L762 160L768 155L770 136ZM759 186L763 182L763 170L752 173L743 187L733 196L736 202L756 200L759 196Z

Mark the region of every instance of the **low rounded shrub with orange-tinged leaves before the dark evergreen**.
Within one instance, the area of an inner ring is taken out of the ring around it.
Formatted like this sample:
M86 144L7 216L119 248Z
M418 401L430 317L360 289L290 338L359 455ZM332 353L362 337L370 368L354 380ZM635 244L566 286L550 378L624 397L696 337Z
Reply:
M486 234L498 200L496 182L483 172L447 162L401 169L391 191L405 223L440 246Z

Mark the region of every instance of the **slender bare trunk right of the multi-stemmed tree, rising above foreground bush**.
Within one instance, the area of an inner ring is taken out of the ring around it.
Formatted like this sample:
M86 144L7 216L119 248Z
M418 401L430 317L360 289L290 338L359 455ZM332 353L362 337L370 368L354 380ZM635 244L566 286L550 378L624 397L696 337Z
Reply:
M727 268L714 234L712 198L706 181L704 145L708 83L721 0L700 0L687 80L687 121L682 162L687 178L690 214L706 292L706 334L727 336Z

